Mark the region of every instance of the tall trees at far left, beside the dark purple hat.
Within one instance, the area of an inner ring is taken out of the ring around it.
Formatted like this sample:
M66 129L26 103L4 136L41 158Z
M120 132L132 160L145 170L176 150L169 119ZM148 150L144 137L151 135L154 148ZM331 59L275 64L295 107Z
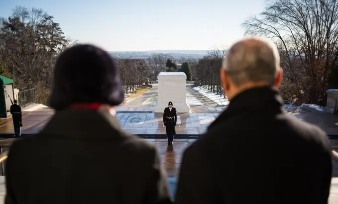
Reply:
M20 90L37 88L37 102L48 101L52 66L67 43L59 23L41 9L17 6L11 17L1 20L4 67Z

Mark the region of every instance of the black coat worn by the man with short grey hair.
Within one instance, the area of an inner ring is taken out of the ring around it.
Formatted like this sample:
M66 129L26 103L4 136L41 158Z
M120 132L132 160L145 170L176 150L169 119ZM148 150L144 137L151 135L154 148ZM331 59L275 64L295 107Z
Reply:
M177 204L327 204L332 158L320 128L271 88L246 90L184 153Z

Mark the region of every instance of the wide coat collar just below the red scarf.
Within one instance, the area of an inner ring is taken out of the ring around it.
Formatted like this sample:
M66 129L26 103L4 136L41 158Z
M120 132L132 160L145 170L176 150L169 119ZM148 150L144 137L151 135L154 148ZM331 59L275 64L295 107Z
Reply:
M112 138L121 130L118 119L107 110L66 109L56 111L40 133L95 139Z

